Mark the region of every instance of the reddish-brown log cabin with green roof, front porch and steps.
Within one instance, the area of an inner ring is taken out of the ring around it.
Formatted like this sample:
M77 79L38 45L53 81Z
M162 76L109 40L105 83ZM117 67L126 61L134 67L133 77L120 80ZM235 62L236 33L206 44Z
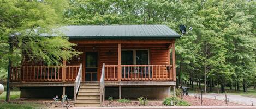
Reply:
M62 66L28 58L10 69L21 98L68 95L75 106L102 106L105 98L165 98L175 94L175 39L166 25L65 26L81 55ZM54 36L54 35L53 35ZM53 37L52 36L52 37Z

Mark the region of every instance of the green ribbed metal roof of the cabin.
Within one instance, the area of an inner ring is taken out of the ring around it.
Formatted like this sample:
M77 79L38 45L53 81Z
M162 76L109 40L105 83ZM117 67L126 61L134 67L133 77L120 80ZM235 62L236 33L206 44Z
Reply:
M70 39L175 39L181 35L166 25L83 25L64 26Z

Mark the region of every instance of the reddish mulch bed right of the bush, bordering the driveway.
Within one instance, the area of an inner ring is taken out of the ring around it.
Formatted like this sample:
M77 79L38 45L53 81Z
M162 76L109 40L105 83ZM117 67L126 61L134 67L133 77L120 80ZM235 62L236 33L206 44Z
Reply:
M201 99L195 98L193 96L184 96L183 99L190 103L192 106L201 106ZM203 98L202 106L227 106L225 101ZM242 104L237 104L234 102L228 102L228 106L246 106Z

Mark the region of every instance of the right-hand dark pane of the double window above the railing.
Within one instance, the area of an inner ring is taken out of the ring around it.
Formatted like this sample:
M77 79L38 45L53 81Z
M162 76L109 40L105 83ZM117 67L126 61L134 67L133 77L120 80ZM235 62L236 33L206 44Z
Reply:
M148 65L147 50L136 50L136 65Z

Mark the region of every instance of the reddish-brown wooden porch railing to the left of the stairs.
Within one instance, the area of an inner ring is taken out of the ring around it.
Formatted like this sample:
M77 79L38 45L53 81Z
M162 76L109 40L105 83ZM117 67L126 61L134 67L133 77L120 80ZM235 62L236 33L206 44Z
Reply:
M75 66L12 66L11 82L75 81L79 65Z

